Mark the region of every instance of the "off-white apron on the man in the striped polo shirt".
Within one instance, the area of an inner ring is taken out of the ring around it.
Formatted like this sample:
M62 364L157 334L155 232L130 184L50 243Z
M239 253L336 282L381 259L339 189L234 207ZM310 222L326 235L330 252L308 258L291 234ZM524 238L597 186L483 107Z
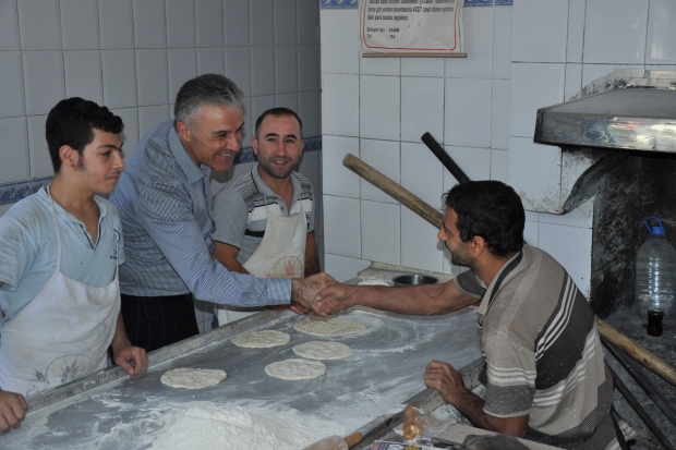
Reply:
M298 203L301 211L295 216L275 216L269 209L267 210L263 240L258 248L244 263L244 268L249 273L261 278L303 278L307 222L300 198ZM267 209L267 200L265 208ZM216 305L219 326L239 320L258 311L261 309Z

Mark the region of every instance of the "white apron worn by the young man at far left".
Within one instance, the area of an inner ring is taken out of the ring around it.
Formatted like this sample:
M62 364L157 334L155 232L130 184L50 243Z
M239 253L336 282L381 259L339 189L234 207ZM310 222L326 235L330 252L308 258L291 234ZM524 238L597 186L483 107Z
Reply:
M57 270L0 331L0 389L24 397L108 366L108 346L120 312L117 267L113 281L102 288L61 273L61 236L49 199L59 248Z

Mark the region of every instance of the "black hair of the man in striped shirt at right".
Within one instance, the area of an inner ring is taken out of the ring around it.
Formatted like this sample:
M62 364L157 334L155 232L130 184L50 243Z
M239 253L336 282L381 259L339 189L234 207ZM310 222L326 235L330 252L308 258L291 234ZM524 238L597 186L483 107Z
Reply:
M499 181L468 181L456 184L444 196L446 206L458 215L462 242L479 235L499 257L523 247L526 212L511 186Z

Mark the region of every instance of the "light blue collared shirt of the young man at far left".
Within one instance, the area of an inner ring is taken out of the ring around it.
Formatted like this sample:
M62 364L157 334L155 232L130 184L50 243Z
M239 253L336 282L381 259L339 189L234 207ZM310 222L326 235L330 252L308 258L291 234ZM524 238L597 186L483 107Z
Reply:
M120 218L108 200L98 206L98 239L85 224L55 202L61 236L61 272L75 281L104 287L124 262ZM40 188L0 218L0 329L12 321L40 293L57 269L57 230L49 195Z

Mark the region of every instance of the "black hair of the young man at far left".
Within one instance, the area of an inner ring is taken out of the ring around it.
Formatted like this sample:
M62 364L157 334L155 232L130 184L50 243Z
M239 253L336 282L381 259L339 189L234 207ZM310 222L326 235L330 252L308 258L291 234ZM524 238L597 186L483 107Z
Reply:
M55 173L61 170L59 149L68 145L80 155L94 141L94 130L120 134L124 129L122 119L99 107L94 101L80 97L67 98L57 104L47 115L45 137Z

